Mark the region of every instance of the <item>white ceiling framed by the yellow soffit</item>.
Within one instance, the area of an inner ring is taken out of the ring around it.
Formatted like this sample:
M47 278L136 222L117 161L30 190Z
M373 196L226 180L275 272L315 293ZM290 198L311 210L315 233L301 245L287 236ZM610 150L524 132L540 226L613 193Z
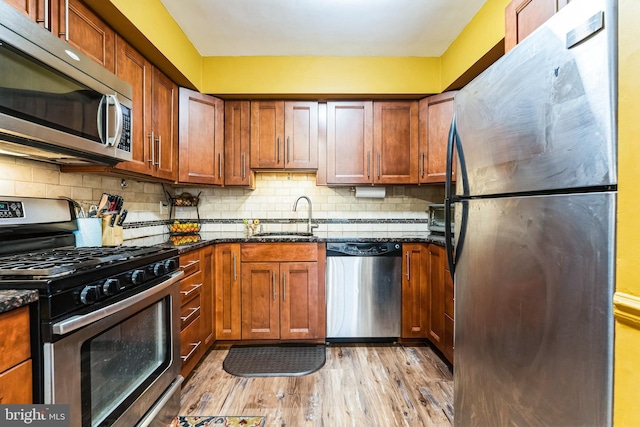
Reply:
M203 56L440 56L486 0L160 0Z

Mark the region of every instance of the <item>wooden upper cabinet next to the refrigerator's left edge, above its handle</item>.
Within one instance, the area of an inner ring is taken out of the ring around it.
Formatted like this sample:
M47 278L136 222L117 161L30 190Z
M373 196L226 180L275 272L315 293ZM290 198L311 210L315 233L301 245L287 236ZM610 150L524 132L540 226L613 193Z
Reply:
M420 183L443 183L446 178L447 144L453 120L456 92L420 100ZM457 161L453 162L455 181Z

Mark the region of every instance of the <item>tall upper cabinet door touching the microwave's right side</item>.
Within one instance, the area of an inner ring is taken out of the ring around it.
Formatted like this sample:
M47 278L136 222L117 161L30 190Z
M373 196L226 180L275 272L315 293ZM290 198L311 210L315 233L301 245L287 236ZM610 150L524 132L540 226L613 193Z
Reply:
M132 160L120 162L116 169L151 175L151 63L123 38L116 37L116 74L133 90Z

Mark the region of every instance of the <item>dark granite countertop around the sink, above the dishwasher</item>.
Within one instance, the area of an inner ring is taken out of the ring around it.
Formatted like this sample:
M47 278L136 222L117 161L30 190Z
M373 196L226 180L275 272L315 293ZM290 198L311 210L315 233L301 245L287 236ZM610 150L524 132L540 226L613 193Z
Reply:
M277 236L277 237L245 237L240 233L216 233L204 232L200 233L200 241L196 243L188 243L184 245L174 245L169 240L168 234L159 234L156 236L141 237L130 239L124 242L127 246L166 246L175 247L179 253L186 253L205 246L216 243L304 243L304 242L399 242L399 243L435 243L444 246L444 240L439 236L429 236L425 233L421 236L398 236L388 234L384 236L360 236L360 237L341 237L341 236Z

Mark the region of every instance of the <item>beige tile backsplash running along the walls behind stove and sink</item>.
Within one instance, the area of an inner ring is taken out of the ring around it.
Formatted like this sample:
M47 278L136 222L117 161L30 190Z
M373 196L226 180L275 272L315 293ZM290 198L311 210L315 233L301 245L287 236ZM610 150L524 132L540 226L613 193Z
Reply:
M160 202L167 200L161 184L125 178L126 188L122 188L122 178L62 173L53 164L2 155L0 170L0 195L68 197L88 209L103 192L119 194L129 210L125 239L166 231L164 223L169 216L160 213ZM316 186L315 174L310 173L258 173L254 190L167 184L165 188L174 195L200 195L199 213L205 231L241 232L243 219L260 219L269 231L281 231L289 219L298 220L294 226L304 226L306 200L298 203L297 212L292 211L295 200L304 195L312 201L313 218L320 223L321 233L424 232L427 204L444 200L441 185L387 186L384 199L356 198L353 187ZM177 207L174 217L196 218L197 214L193 208Z

